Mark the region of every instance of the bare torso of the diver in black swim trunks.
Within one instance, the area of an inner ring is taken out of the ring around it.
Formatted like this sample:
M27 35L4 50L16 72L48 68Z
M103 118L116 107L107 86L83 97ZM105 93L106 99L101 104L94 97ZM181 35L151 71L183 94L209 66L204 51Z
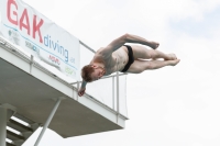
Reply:
M116 71L123 70L124 66L129 61L128 48L125 46L121 46L119 49L112 53L112 55L105 56L102 55L102 50L105 48L100 48L94 56L94 59L90 64L94 63L102 63L105 64L106 74L105 76L111 75Z

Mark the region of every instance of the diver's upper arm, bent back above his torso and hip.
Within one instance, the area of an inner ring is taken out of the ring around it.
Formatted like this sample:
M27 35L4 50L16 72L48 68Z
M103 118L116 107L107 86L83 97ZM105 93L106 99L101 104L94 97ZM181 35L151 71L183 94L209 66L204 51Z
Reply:
M154 49L158 47L158 43L147 41L147 40L136 36L136 35L124 34L124 35L120 36L119 38L116 38L114 41L112 41L107 47L105 47L102 50L100 50L100 53L102 53L105 55L111 55L114 50L120 48L125 43L138 43L138 44L150 46Z

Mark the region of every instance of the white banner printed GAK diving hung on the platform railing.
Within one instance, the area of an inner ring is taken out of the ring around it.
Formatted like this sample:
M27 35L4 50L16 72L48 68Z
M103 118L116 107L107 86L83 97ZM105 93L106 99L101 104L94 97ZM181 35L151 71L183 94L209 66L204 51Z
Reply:
M21 0L0 0L0 35L79 79L79 41Z

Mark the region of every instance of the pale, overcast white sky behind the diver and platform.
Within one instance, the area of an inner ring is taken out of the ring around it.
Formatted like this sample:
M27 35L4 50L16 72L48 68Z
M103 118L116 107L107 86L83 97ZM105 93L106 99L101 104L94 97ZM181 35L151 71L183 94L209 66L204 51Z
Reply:
M40 146L220 145L220 0L24 1L94 49L131 33L182 59L128 76L125 130L66 139L46 131Z

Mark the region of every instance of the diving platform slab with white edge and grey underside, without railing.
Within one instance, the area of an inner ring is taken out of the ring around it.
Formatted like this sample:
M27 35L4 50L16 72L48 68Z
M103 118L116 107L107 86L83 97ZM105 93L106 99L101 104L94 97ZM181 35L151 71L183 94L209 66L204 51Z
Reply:
M64 138L125 126L128 117L119 111L89 94L78 97L76 87L0 37L0 106L10 104L18 115L43 126L59 98L64 100L48 128Z

